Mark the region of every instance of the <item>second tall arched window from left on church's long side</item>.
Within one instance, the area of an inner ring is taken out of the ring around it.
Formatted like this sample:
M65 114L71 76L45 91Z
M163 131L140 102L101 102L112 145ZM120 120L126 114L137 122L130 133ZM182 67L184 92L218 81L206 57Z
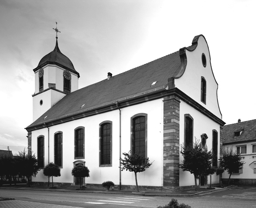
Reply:
M54 134L54 164L62 167L62 132Z

